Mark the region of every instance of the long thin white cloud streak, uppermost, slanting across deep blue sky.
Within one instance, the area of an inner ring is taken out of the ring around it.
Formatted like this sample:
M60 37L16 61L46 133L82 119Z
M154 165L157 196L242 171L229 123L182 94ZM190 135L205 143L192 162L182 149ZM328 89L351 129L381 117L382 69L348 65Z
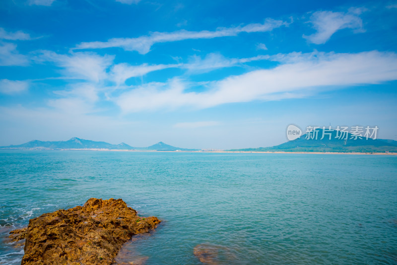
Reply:
M189 39L212 39L218 37L237 36L241 32L265 32L274 28L288 25L287 22L274 19L266 19L265 23L253 23L246 26L237 26L230 28L218 28L215 31L187 31L179 30L174 32L153 32L148 36L137 38L113 38L106 42L83 42L76 46L75 49L103 49L111 47L120 47L126 51L137 51L140 54L146 54L156 43L174 42Z

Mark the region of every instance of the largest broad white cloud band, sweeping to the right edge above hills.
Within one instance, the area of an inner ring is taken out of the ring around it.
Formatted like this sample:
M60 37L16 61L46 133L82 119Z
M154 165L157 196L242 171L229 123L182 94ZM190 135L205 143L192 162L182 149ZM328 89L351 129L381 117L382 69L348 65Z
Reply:
M208 108L226 103L300 98L324 89L397 79L395 53L292 53L274 56L271 60L282 64L213 82L204 92L186 92L189 86L174 78L167 83L133 87L114 101L125 113Z

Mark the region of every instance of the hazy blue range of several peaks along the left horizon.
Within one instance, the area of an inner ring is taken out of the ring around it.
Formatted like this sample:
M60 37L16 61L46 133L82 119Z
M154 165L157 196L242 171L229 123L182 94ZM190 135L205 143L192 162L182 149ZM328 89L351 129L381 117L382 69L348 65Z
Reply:
M158 142L148 147L132 147L127 143L111 144L102 141L91 141L77 137L70 138L67 141L39 141L32 140L19 145L1 146L0 149L117 149L117 150L153 150L153 151L176 151L176 150L195 150L179 148Z

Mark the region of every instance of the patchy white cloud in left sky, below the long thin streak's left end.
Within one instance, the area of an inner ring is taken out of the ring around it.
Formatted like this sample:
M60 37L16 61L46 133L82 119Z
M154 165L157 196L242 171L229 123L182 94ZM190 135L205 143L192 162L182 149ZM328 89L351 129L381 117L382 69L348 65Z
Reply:
M62 72L67 77L81 78L99 82L108 78L107 69L112 66L115 56L100 56L95 53L57 54L44 51L39 60L51 61L64 68Z

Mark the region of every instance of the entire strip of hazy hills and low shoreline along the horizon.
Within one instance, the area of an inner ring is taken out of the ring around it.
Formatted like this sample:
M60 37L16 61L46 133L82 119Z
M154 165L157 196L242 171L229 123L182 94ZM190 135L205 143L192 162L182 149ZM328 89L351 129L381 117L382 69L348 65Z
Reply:
M346 133L343 137L331 130L322 137L323 130L316 129L317 138L309 137L307 133L299 138L285 143L259 148L243 148L229 150L188 149L175 147L164 142L147 147L133 147L127 143L111 144L104 141L92 141L72 137L66 141L32 140L19 145L1 146L0 150L132 150L132 151L217 151L217 152L335 152L335 153L397 153L397 141L389 139L372 139L356 137Z

